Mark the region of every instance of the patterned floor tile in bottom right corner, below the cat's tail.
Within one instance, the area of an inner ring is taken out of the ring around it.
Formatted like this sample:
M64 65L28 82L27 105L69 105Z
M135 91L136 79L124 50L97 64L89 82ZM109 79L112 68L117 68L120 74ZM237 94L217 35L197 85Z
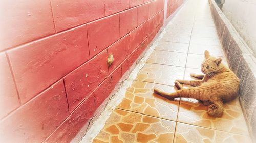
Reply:
M248 136L227 133L218 130L212 130L207 128L202 128L198 126L177 123L175 140L176 143L185 142L195 142L195 143L205 143L205 142L225 142L225 143L240 143L248 142L251 140Z

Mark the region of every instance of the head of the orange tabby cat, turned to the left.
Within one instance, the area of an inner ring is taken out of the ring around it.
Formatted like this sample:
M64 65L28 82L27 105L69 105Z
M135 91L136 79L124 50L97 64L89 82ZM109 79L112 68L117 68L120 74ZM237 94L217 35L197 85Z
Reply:
M212 57L210 56L210 53L209 51L205 50L204 51L204 61L203 63L201 64L201 71L202 73L204 74L212 74L212 73L215 73L217 72L221 66L221 58L215 58L215 57Z

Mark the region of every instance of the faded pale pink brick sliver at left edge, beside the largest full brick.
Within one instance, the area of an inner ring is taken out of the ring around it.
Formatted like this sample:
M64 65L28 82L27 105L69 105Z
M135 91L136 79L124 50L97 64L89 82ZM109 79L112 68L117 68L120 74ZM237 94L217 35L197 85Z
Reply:
M19 107L18 95L5 53L0 53L0 119Z

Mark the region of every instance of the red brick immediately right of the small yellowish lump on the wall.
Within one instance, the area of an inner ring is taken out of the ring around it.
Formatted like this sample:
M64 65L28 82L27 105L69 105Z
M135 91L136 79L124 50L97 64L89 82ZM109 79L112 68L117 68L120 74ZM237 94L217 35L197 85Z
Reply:
M129 48L130 35L126 35L108 48L108 54L114 56L114 62L109 66L109 73L112 73L130 54Z

